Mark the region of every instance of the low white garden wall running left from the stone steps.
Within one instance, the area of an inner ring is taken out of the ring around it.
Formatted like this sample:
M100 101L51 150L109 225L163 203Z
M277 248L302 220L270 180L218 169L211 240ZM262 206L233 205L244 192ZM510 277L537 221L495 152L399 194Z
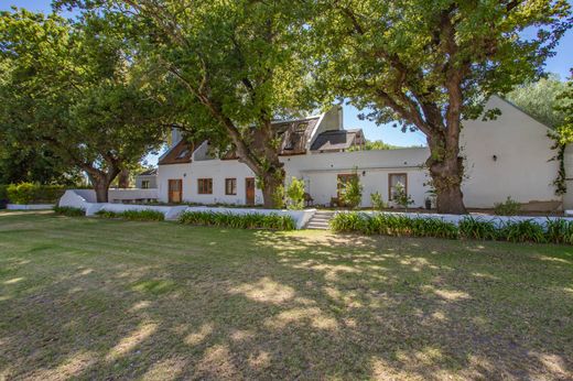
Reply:
M147 190L147 189L145 189ZM316 209L305 210L275 210L275 209L260 209L260 208L218 208L208 206L155 206L155 205L138 205L138 204L115 204L115 203L95 203L95 193L91 195L89 189L74 189L66 190L60 199L60 206L68 206L74 208L82 208L86 210L86 216L93 216L99 210L108 210L121 213L126 210L156 210L165 215L165 219L174 220L183 211L213 211L213 213L228 213L233 215L260 214L270 215L277 214L280 216L291 216L296 222L296 229L302 229L309 220L314 216ZM94 190L91 190L94 192ZM94 198L90 198L94 196Z

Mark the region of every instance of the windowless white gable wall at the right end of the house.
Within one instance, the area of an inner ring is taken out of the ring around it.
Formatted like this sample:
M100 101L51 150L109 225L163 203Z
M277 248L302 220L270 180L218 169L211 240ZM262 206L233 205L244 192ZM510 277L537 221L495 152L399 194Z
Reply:
M496 120L464 122L466 206L491 207L507 196L520 203L559 200L551 184L558 163L549 161L555 152L548 128L497 97L488 102L495 107L501 111Z

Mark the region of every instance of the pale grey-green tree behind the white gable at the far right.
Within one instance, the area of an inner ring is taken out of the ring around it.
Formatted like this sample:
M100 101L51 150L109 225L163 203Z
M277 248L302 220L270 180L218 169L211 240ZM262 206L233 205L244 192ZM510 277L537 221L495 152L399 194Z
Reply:
M528 81L507 94L507 99L531 115L540 122L554 129L563 123L564 113L555 109L558 96L565 91L566 85L556 75L538 81Z

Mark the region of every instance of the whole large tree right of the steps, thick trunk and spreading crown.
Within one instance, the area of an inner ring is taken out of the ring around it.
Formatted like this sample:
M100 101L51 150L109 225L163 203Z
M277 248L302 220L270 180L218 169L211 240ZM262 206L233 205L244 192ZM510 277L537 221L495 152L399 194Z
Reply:
M347 98L379 123L399 120L420 130L431 151L425 164L439 213L465 214L460 151L463 120L489 118L494 94L541 73L571 26L564 0L313 1L305 32L318 85ZM537 28L536 37L520 32Z

